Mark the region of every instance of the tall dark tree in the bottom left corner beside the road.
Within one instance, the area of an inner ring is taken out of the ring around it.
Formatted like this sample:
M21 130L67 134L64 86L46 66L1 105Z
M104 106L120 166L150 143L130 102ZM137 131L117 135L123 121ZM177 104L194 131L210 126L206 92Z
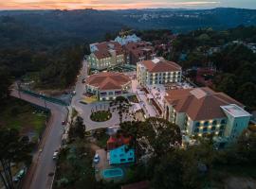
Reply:
M1 180L7 189L13 189L10 163L31 163L31 144L27 137L21 138L16 129L0 129Z

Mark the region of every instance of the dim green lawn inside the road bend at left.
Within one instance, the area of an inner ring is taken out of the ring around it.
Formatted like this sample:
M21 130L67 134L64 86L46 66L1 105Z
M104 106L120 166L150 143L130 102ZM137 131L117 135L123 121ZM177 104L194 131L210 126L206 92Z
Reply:
M0 114L0 127L18 129L21 134L29 132L38 137L46 127L46 112L39 111L17 98L10 98Z

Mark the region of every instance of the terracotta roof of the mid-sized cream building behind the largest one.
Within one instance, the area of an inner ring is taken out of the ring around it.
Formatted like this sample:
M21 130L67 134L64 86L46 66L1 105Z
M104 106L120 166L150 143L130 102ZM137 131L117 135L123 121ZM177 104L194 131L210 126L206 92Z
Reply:
M181 71L181 66L176 64L174 61L164 60L163 58L157 58L155 60L143 60L142 64L151 73Z

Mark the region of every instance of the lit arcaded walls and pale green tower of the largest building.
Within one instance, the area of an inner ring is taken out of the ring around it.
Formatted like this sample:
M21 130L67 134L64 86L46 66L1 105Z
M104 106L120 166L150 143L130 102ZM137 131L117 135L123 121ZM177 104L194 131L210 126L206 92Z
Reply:
M250 114L237 105L235 106L245 112L242 116L233 116L229 112L224 111L227 116L216 117L207 120L192 120L186 112L176 112L173 105L166 102L165 118L171 123L179 126L189 136L207 136L214 135L228 138L229 141L236 140L244 129L247 129ZM220 107L220 109L223 109Z

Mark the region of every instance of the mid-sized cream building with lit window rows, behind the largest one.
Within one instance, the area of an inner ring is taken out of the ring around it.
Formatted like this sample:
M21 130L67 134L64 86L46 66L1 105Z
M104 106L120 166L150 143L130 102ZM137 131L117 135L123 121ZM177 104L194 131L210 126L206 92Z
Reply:
M137 81L143 86L180 82L181 76L181 67L164 58L137 62Z

